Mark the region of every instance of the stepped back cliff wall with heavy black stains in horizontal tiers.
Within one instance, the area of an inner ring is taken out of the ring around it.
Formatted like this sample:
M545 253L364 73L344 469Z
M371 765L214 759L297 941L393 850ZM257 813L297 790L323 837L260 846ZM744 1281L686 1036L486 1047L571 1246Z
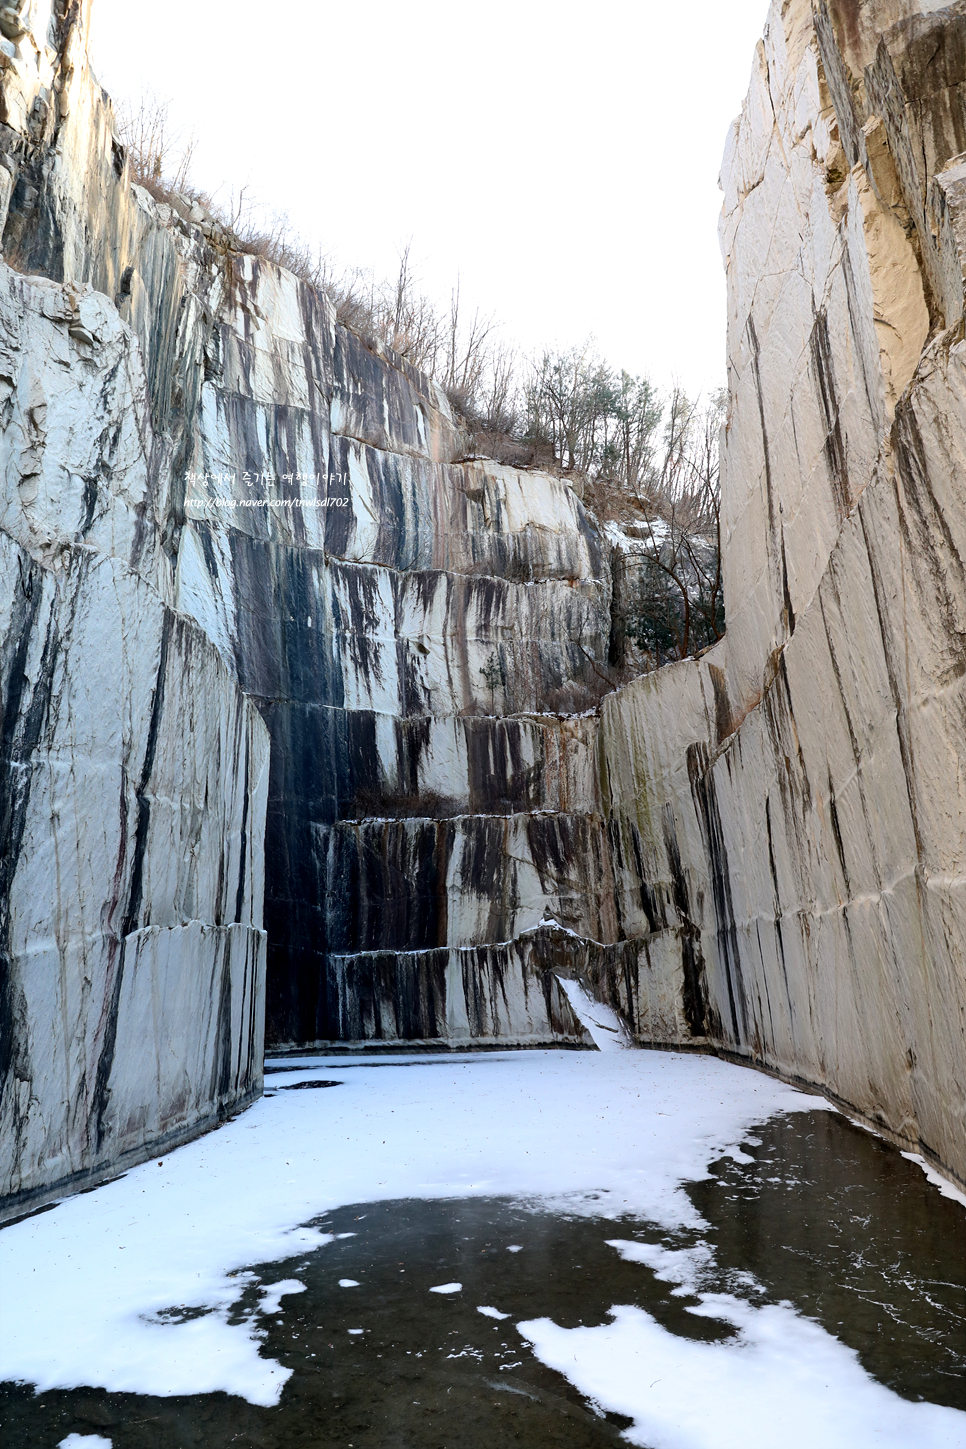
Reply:
M581 503L466 459L426 378L252 258L204 368L178 597L272 738L269 1040L582 1039L518 940L611 911L595 722L560 717L605 687Z

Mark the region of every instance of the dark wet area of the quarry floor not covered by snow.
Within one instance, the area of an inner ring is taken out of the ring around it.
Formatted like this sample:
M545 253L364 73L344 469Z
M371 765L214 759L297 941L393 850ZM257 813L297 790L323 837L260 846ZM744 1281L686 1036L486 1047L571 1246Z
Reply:
M582 1397L516 1324L604 1326L621 1304L691 1343L737 1342L731 1323L688 1311L701 1307L695 1293L756 1307L791 1301L878 1382L907 1400L966 1408L962 1206L831 1113L779 1116L739 1156L688 1187L710 1224L701 1233L611 1211L604 1191L581 1194L572 1216L505 1198L327 1213L313 1226L335 1240L246 1271L232 1310L233 1323L258 1321L262 1353L293 1371L278 1407L226 1394L35 1395L6 1385L4 1449L48 1449L70 1433L101 1435L113 1449L627 1443L631 1419ZM608 1240L621 1240L623 1255ZM633 1261L637 1245L652 1266ZM689 1266L658 1278L653 1268L668 1262ZM676 1391L686 1398L689 1384ZM781 1384L773 1391L781 1401ZM647 1440L637 1433L634 1442ZM860 1437L854 1443L862 1449Z

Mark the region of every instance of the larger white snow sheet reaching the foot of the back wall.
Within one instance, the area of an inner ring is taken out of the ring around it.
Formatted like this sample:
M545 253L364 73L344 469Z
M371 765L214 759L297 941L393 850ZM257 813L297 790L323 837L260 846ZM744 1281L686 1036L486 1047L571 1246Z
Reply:
M303 1069L320 1066L333 1069ZM264 1098L161 1166L0 1232L0 1295L17 1304L1 1316L0 1378L274 1404L290 1374L259 1352L272 1304L229 1313L245 1269L332 1240L300 1224L349 1203L507 1194L700 1227L682 1182L755 1123L824 1106L669 1052L356 1058L342 1087Z

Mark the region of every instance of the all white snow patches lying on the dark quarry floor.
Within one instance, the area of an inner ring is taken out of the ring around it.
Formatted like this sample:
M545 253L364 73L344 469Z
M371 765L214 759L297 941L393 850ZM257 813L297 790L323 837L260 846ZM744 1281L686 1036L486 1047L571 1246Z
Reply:
M516 1195L700 1229L682 1182L707 1177L724 1152L742 1159L743 1135L775 1113L826 1106L757 1072L668 1052L298 1065L266 1078L268 1090L320 1068L343 1085L275 1090L217 1132L0 1232L0 1295L17 1306L0 1324L0 1379L39 1391L224 1390L271 1406L290 1375L259 1355L259 1319L284 1313L282 1297L303 1285L262 1287L259 1310L242 1323L230 1324L229 1311L256 1281L245 1269L333 1240L300 1224L349 1203ZM701 1252L613 1246L637 1256L642 1272L692 1287L707 1266ZM966 1446L965 1414L879 1388L789 1306L707 1294L692 1311L734 1323L737 1340L684 1340L629 1307L595 1329L520 1327L581 1391L631 1414L629 1439L655 1449L730 1449L739 1424L746 1449L770 1449L776 1436L788 1449ZM857 1433L863 1414L875 1433Z

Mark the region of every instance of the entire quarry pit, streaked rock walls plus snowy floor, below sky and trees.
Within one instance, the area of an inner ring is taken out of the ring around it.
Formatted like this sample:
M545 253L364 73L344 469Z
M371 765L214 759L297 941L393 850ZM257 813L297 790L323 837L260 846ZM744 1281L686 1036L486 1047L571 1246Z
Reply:
M592 491L132 180L90 19L0 9L4 1435L962 1449L966 0L770 6L637 677Z

